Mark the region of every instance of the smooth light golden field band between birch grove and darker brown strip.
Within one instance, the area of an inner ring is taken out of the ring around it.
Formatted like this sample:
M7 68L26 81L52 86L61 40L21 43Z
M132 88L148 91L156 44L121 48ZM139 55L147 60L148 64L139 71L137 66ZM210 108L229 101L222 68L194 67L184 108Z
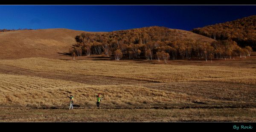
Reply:
M121 77L126 80L135 79L151 82L178 82L210 78L251 77L256 75L256 69L251 68L229 66L183 66L104 60L66 61L47 58L23 58L19 60L1 60L0 64L15 66L35 72Z

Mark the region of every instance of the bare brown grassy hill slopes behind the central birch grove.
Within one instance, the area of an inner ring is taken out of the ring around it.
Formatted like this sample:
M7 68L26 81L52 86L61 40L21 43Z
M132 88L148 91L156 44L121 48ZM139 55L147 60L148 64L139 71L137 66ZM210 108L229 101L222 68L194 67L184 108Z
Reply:
M213 39L192 32L176 30L183 38L212 42ZM70 29L39 29L0 32L0 59L27 57L63 58L60 53L68 52L75 37L84 31ZM107 32L85 32L104 34Z

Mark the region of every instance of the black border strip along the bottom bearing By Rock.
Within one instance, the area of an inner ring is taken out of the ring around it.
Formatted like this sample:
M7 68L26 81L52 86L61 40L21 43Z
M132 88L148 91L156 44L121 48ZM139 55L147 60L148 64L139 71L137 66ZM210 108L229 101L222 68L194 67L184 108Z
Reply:
M9 125L9 126L8 126ZM239 129L234 129L234 125L239 126ZM252 129L241 129L240 126L251 126ZM49 122L33 122L33 123L0 123L2 128L10 130L25 130L25 131L127 131L127 132L179 132L179 131L195 131L203 130L220 131L220 132L238 132L238 131L254 131L256 130L256 122L78 122L78 123L49 123ZM15 126L15 127L13 127ZM32 128L33 127L33 128Z

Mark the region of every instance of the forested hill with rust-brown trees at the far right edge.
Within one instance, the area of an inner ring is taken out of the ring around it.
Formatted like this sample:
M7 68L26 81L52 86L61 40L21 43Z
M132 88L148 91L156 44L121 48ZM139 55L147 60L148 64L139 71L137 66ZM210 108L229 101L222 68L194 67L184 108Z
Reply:
M232 39L241 47L251 46L256 50L256 15L196 28L192 32L216 40Z

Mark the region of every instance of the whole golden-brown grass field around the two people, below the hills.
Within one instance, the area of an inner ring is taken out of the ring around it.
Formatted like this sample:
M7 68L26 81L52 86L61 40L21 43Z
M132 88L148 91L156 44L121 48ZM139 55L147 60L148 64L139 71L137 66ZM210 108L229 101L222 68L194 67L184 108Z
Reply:
M254 60L0 60L0 121L256 121Z

